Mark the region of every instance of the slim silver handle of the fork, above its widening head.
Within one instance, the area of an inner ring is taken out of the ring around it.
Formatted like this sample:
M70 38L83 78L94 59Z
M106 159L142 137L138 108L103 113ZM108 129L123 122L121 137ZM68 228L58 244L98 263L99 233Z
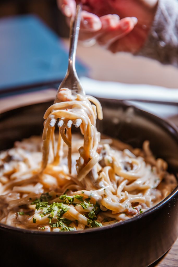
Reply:
M69 65L68 69L75 70L75 58L78 42L78 34L80 30L82 4L78 4L76 7L75 18L71 19L70 24L70 49L69 49Z

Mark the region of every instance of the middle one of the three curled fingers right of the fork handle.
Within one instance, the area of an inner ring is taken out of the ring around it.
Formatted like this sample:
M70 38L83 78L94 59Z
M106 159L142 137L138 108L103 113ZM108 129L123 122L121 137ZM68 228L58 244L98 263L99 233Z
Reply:
M106 33L109 30L113 30L117 26L117 23L119 22L120 18L116 14L112 14L112 15L109 14L109 15L102 16L99 19L101 22L100 30L95 30L95 31L89 30L83 25L80 31L80 36L79 36L80 40L89 41L91 39L97 38L98 36Z

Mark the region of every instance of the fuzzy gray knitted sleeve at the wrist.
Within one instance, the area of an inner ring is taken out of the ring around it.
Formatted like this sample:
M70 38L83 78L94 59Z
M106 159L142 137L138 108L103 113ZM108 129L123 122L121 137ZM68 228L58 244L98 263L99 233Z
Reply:
M159 0L148 39L137 55L178 67L178 1Z

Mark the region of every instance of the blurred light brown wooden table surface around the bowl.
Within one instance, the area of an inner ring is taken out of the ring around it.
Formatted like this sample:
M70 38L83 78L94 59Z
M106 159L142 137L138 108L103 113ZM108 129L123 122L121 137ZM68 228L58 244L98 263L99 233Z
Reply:
M93 56L94 54L96 56ZM123 56L123 54L120 56L113 56L108 52L105 53L97 47L83 48L79 45L78 55L90 66L91 77L98 80L148 83L167 87L177 87L177 69L174 69L171 66L162 67L157 62L151 62L149 60L144 61L142 58L133 59L132 56ZM107 66L105 62L107 62ZM123 67L121 67L121 65ZM145 68L151 70L149 75L146 74L147 71L145 71ZM155 75L155 73L157 73L157 75ZM169 80L168 78L166 79L166 76L169 77ZM0 99L0 113L8 110L9 107L15 108L30 103L38 103L39 101L52 100L54 99L55 94L56 90L51 88L38 92L26 93L25 95L15 95ZM160 260L149 267L178 267L178 239Z

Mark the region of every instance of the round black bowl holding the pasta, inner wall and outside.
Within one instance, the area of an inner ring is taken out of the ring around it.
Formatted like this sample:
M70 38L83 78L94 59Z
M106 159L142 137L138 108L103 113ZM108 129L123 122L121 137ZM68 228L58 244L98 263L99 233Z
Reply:
M117 100L99 99L104 120L98 129L133 147L150 140L157 157L178 172L178 132L170 123ZM52 104L40 103L0 115L0 150L15 140L39 135L43 113ZM165 254L178 235L178 187L161 203L128 221L86 231L48 233L0 224L4 266L146 267Z

